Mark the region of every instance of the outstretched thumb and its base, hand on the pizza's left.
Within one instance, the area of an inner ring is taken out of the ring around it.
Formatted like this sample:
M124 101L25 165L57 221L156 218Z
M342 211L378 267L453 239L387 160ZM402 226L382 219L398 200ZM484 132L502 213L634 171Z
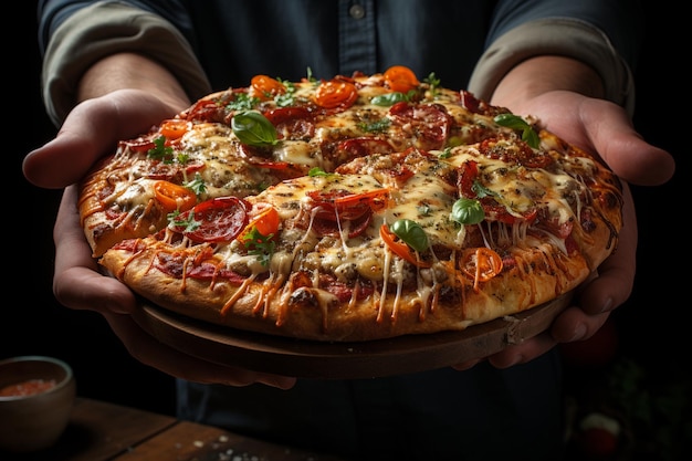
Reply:
M27 155L24 176L48 189L75 184L118 140L145 133L172 114L170 106L132 90L88 99L70 113L55 139Z

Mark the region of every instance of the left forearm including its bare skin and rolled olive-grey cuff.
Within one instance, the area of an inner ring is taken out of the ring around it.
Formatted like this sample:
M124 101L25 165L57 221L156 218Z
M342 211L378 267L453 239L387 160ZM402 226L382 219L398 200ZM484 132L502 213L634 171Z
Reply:
M161 73L161 65L170 74ZM169 85L171 75L176 85ZM56 126L77 102L113 90L144 85L156 95L165 93L171 98L168 103L176 101L177 108L181 108L180 85L186 102L211 91L178 30L156 14L120 2L85 4L57 24L46 44L41 82L46 112Z

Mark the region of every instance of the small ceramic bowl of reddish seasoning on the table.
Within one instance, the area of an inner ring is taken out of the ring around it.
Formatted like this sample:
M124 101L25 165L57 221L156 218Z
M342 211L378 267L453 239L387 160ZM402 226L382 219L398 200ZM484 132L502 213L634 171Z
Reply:
M29 452L55 443L67 426L75 394L72 368L62 360L0 360L0 450Z

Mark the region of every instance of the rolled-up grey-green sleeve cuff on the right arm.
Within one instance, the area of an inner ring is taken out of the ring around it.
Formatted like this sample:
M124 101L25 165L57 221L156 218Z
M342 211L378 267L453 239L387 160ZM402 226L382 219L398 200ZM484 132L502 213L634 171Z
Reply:
M469 91L489 99L512 67L538 55L569 56L590 65L604 82L605 97L633 113L635 83L629 65L600 29L572 18L537 19L502 34L474 67Z

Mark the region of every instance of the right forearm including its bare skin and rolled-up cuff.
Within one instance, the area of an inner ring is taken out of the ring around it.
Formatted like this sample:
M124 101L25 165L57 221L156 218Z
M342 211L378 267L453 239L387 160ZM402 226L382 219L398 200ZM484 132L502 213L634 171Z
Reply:
M635 109L627 62L602 31L569 18L530 21L500 36L479 60L468 90L510 108L507 101L527 94L569 90L611 101L630 115Z

